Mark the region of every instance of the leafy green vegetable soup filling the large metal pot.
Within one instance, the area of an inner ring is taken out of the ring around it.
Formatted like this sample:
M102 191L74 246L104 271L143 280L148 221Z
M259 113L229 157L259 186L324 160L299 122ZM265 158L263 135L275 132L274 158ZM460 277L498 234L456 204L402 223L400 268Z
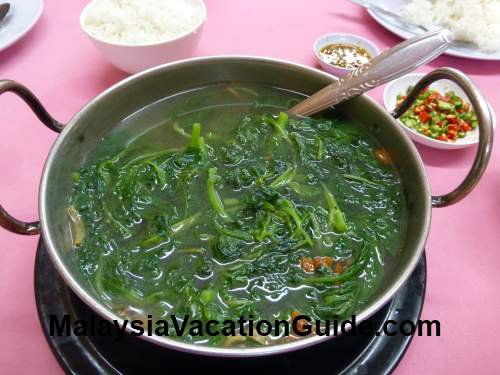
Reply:
M214 84L156 102L103 139L74 171L67 210L72 267L102 304L123 318L222 322L345 318L369 301L405 237L400 176L334 111L289 118L301 98Z

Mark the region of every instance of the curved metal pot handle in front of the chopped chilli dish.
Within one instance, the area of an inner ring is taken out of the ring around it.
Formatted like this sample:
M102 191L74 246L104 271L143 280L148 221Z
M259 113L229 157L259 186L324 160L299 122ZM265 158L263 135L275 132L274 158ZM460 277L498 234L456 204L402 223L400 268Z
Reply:
M474 163L465 179L452 192L445 195L432 196L433 207L446 207L457 203L474 189L488 165L493 146L493 119L486 100L476 84L464 73L456 69L440 68L425 75L417 82L415 87L413 87L405 100L394 110L392 115L395 118L401 116L410 108L424 88L440 79L448 79L455 82L467 94L472 104L472 108L476 112L479 123L479 145L477 147Z

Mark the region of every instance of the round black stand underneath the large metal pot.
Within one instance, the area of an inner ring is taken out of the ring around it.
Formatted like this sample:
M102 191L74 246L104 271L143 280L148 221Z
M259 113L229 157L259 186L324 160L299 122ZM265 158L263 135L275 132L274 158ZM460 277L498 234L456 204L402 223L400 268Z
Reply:
M392 301L370 320L381 327L387 319L416 322L422 310L426 282L425 255ZM95 313L69 290L53 267L42 241L35 262L38 316L47 341L67 374L387 374L403 357L411 337L339 336L310 348L247 359L196 356L169 350L125 335L120 342L108 336L49 335L49 316L72 315L90 320Z

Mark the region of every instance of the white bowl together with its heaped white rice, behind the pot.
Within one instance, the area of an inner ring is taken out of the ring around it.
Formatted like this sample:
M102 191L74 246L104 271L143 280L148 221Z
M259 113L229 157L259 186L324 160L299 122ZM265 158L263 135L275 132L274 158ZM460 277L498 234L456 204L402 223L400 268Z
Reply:
M80 24L111 64L137 73L191 57L206 19L202 0L93 0Z

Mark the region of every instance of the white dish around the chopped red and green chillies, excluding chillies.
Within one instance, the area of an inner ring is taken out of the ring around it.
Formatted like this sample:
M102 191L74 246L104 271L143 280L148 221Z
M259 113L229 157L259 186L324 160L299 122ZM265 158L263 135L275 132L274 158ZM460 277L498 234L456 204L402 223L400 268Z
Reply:
M401 78L398 78L390 83L388 83L384 90L384 106L388 111L393 111L396 108L397 95L405 94L406 90L409 86L414 86L425 73L411 73L407 74ZM446 91L454 91L458 96L465 100L465 102L469 103L467 96L464 91L458 87L454 82L448 80L441 80L434 82L431 88L438 90L440 93L444 93ZM496 117L493 108L488 104L490 109L491 117L493 118L493 127L496 126ZM401 121L398 121L399 124L403 127L406 134L415 142L421 143L423 145L440 148L440 149L460 149L465 147L470 147L478 143L479 141L479 130L473 129L470 132L467 132L467 135L464 138L459 138L454 142L444 142L438 141L437 139L429 138L423 134L420 134L416 130L410 129L407 126L403 125ZM481 125L481 124L480 124Z

